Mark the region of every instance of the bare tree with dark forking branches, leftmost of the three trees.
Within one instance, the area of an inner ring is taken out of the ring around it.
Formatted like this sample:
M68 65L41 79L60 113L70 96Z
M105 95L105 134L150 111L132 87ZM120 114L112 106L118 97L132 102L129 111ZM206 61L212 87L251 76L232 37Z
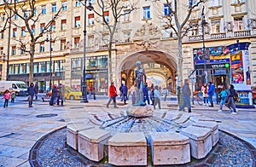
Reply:
M33 81L33 62L34 62L34 55L35 55L35 47L36 44L41 43L39 38L43 37L45 33L49 32L50 26L52 23L57 20L59 14L61 14L61 8L58 9L54 15L52 15L49 20L44 23L44 28L41 29L39 33L34 33L33 28L35 27L38 20L43 17L42 13L36 14L36 7L37 5L36 0L23 0L23 1L14 1L14 3L10 1L4 1L5 5L5 14L8 15L7 21L10 25L13 25L19 28L24 33L29 34L29 38L19 38L16 39L20 43L20 49L23 52L26 52L30 55L29 57L29 83ZM15 17L18 17L22 24L18 24L15 21ZM8 25L8 24L6 24ZM45 40L43 40L45 41Z

